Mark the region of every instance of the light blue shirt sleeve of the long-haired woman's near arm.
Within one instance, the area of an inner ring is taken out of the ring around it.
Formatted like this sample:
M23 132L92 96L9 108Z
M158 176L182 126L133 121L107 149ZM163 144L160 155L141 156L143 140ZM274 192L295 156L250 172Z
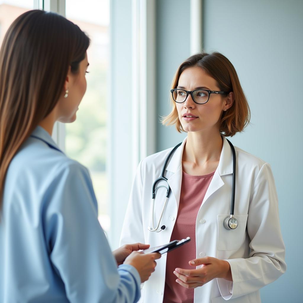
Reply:
M43 197L50 260L71 302L137 302L138 271L131 265L117 269L97 213L87 169L69 161Z

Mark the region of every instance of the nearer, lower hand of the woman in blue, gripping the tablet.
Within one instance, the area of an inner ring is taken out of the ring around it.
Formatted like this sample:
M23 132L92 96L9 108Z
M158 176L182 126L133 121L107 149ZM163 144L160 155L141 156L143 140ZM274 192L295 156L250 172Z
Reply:
M155 271L156 259L161 258L161 254L153 252L144 254L143 252L133 251L124 261L124 264L134 266L141 278L141 283L148 280L151 273Z

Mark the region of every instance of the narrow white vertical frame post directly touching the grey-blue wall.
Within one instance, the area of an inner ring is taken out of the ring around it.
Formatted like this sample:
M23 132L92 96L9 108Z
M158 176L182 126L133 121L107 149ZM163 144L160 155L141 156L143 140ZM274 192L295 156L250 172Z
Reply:
M132 1L132 166L156 150L155 0Z

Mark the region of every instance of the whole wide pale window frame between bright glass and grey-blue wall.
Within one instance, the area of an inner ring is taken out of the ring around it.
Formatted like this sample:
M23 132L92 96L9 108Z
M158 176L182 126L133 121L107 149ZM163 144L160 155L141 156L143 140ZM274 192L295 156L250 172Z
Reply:
M156 101L147 92L156 89L155 0L111 0L111 56L108 238L115 249L138 162L155 152Z

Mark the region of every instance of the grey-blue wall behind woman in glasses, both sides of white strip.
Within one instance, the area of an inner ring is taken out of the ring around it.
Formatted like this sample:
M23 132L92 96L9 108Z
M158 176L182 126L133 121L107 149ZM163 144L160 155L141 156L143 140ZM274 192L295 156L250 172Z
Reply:
M303 302L300 171L303 114L303 1L203 1L206 51L226 55L235 66L251 108L251 125L231 138L240 148L271 164L279 197L288 270L261 289L262 302ZM158 115L170 112L167 91L189 54L189 1L158 1ZM181 6L181 9L180 9ZM179 20L170 11L179 12ZM182 35L184 45L171 44ZM174 128L158 124L157 148L180 142Z

